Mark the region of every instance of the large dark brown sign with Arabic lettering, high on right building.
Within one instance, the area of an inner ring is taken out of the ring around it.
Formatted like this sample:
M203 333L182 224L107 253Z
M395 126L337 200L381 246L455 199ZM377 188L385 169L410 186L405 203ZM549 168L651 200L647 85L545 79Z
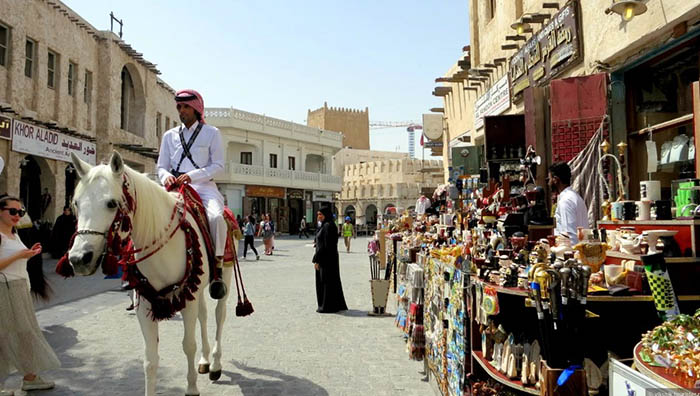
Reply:
M583 58L580 28L578 3L572 1L513 55L508 71L513 98L527 87L547 83Z

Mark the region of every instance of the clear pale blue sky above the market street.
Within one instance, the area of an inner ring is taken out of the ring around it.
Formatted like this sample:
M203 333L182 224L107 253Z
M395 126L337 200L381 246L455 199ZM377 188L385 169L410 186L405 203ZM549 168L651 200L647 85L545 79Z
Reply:
M324 101L369 107L372 121L421 122L442 107L435 78L469 42L467 0L64 2L100 30L114 11L124 40L207 107L304 124ZM408 151L405 128L371 132L371 146Z

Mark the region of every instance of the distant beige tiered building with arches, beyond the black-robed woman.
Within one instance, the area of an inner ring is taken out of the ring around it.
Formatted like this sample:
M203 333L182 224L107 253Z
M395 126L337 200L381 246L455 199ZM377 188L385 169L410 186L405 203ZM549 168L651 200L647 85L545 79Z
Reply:
M370 229L389 208L413 209L421 193L443 182L442 161L388 159L345 165L338 213Z

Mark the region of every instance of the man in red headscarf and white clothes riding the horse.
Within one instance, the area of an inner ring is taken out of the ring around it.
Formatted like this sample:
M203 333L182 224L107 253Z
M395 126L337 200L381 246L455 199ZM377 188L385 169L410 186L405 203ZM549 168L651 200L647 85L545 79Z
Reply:
M199 92L193 89L178 91L175 103L182 125L163 135L158 154L158 178L167 189L189 183L199 194L207 211L219 272L227 237L224 197L214 183L214 178L224 170L221 132L205 124L204 100ZM210 287L210 293L214 298L223 297L216 288Z

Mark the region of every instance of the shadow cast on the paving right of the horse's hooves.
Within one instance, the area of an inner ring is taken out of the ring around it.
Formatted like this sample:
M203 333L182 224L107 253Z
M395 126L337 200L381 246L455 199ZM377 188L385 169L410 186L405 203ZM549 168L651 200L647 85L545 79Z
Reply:
M328 396L328 392L305 379L281 373L276 370L262 369L247 366L233 360L232 363L240 373L223 371L222 380L216 382L220 385L239 386L244 396L258 395L314 395ZM266 377L266 378L260 378ZM223 378L229 378L223 380Z

